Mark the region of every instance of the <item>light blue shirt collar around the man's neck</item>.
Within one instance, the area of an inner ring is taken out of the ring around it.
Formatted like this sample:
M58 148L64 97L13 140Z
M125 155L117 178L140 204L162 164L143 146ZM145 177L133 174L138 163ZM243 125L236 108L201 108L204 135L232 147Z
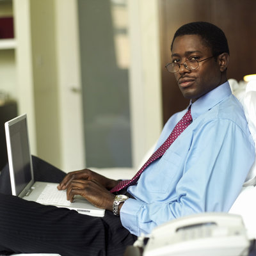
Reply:
M195 118L202 115L231 94L232 92L230 89L230 85L227 81L216 87L215 89L211 90L211 92L203 95L194 103L190 101L191 115L193 120L195 120Z

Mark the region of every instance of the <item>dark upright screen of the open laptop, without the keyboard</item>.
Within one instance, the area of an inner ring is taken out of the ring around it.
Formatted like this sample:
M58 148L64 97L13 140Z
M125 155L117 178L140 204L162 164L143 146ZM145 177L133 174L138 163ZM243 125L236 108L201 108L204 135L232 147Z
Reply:
M26 116L18 122L10 122L8 126L15 190L19 195L32 179Z

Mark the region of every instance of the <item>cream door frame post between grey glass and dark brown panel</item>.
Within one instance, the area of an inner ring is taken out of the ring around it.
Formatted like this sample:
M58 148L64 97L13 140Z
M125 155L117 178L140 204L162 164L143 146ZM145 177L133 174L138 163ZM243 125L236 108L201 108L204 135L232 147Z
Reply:
M133 164L162 129L159 17L157 0L129 0Z

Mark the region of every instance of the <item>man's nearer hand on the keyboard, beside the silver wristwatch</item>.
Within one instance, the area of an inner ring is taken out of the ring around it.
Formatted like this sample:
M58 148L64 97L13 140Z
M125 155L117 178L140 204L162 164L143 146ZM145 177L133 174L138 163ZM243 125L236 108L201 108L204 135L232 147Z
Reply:
M67 186L67 200L73 202L75 195L81 195L96 207L113 210L115 195L96 180L72 180Z

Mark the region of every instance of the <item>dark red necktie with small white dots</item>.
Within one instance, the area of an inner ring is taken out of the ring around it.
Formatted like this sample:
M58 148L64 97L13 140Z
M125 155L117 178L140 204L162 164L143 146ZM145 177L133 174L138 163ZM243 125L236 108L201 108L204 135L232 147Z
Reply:
M177 125L175 125L172 133L168 136L166 141L159 147L152 156L148 159L148 161L140 168L140 170L136 173L136 175L131 180L122 180L120 181L114 188L111 189L111 193L120 191L121 189L127 188L128 186L132 186L136 184L138 179L140 178L141 173L147 168L147 166L158 159L159 157L163 156L164 152L172 145L173 141L175 141L178 136L188 127L189 124L192 122L191 116L191 108L189 107L186 114L180 119Z

